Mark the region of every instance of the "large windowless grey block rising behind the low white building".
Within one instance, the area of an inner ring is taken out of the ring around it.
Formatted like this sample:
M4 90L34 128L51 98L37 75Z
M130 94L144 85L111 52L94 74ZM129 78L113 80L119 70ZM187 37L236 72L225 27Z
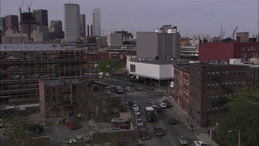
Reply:
M137 32L137 58L180 59L179 33Z

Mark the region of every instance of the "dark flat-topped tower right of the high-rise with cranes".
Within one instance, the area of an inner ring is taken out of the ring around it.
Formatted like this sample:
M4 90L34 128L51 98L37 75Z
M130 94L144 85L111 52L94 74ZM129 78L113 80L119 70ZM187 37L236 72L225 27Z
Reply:
M48 10L33 10L37 26L48 26Z

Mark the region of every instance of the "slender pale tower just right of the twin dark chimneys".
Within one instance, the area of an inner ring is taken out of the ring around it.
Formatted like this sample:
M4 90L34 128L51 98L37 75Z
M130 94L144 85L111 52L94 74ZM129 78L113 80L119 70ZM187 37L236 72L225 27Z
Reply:
M101 37L101 10L93 9L93 35Z

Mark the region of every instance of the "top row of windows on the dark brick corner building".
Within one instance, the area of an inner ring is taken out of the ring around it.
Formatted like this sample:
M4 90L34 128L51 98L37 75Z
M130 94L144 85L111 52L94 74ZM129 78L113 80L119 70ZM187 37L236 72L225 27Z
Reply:
M238 70L238 71L213 71L208 72L208 77L231 77L234 75L246 75L247 71Z

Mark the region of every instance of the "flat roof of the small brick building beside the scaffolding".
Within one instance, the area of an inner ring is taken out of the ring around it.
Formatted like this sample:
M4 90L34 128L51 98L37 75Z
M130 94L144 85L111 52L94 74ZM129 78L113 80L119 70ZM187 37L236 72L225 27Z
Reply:
M50 80L42 80L46 86L53 86L53 85L63 85L69 84L81 84L83 82L79 82L77 78L59 78L59 79L50 79Z

